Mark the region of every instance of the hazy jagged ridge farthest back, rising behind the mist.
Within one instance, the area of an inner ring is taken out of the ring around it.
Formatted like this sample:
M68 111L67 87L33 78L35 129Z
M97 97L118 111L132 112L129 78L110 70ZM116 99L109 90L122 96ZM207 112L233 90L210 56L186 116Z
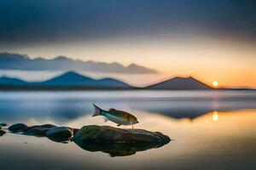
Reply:
M81 61L59 56L55 59L36 58L30 59L27 55L0 53L0 70L26 70L26 71L59 71L78 70L93 72L112 72L126 74L147 74L157 71L140 65L128 66L119 63L104 63L95 61Z

